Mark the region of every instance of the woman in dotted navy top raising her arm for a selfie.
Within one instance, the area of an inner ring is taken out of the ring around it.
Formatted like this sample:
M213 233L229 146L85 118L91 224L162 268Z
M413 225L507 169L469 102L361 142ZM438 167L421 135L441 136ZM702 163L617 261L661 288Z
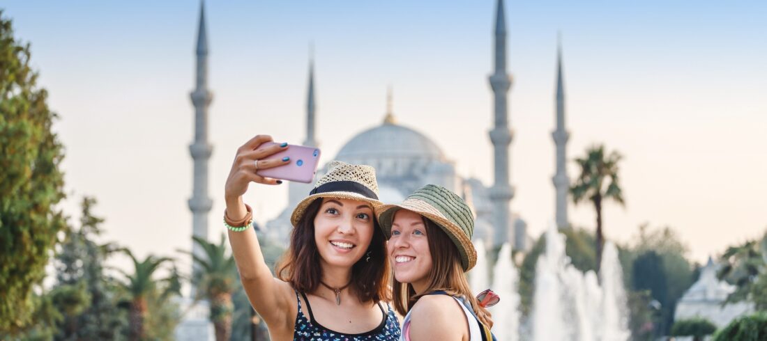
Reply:
M386 241L374 218L375 170L333 161L328 174L293 211L290 246L272 277L242 202L250 182L278 185L256 174L289 159L267 159L287 143L259 147L255 136L237 151L226 179L224 221L242 286L273 340L390 340L400 337L391 307Z

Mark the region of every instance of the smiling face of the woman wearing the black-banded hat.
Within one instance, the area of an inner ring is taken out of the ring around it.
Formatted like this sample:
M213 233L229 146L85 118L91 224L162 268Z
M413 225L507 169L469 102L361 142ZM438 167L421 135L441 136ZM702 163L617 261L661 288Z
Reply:
M352 267L373 238L373 208L367 202L324 198L314 217L314 242L323 266Z

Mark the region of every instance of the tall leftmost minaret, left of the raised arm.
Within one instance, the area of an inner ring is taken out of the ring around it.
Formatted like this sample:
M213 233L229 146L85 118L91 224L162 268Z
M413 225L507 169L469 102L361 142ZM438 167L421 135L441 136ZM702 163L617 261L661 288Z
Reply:
M208 40L205 29L205 8L200 4L199 28L197 31L197 80L195 90L190 93L195 111L194 142L189 145L189 153L194 159L194 189L189 199L192 210L192 232L199 238L208 239L208 212L213 204L208 196L208 160L213 146L208 143L208 106L212 93L208 90ZM193 254L202 256L204 251L193 244ZM196 267L193 272L196 272ZM193 292L194 292L193 288Z

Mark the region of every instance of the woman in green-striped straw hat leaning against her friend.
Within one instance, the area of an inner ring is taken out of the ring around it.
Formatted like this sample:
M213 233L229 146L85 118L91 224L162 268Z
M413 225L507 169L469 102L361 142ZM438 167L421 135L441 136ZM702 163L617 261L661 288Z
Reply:
M387 235L393 301L402 340L494 339L489 313L472 296L464 273L476 264L474 216L458 195L426 185L377 215ZM478 317L479 316L479 317Z

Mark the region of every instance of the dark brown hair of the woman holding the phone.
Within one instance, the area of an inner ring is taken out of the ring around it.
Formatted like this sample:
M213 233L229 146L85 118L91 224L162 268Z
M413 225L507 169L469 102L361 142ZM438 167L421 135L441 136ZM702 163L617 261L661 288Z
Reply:
M293 228L290 248L282 254L275 266L275 274L293 289L302 293L317 290L322 279L320 254L314 241L314 217L320 211L322 198L317 198L306 208L304 215ZM374 220L373 238L365 255L351 267L351 293L360 302L391 300L389 292L390 265L386 259L386 238L378 221ZM365 261L370 252L370 261Z

